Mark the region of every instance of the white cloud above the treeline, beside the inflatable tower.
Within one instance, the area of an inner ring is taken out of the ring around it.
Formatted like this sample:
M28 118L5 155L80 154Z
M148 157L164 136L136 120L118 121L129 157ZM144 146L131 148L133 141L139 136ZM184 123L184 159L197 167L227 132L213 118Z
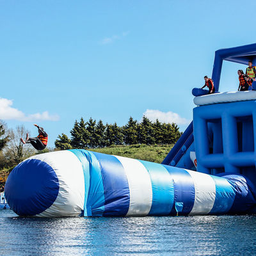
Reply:
M179 114L174 113L172 111L162 112L157 109L147 109L144 113L150 121L155 122L157 119L161 123L175 123L175 124L189 124L189 120L181 117Z

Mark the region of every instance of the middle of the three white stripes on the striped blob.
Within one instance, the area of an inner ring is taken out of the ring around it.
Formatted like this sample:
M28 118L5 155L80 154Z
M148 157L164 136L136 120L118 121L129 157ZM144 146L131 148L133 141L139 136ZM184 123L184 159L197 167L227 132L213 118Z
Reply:
M126 216L147 216L152 205L152 184L145 166L136 159L115 156L124 166L130 190Z

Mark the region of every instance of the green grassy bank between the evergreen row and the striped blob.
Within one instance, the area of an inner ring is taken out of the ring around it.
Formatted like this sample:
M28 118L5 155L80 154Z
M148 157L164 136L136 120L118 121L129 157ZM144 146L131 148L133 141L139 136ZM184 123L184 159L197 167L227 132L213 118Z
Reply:
M173 145L131 145L90 149L91 151L161 163Z

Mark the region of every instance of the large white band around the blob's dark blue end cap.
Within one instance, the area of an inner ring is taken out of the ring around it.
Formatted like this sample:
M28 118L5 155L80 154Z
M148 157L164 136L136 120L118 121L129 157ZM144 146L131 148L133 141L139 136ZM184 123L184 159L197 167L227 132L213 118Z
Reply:
M83 167L75 154L68 150L30 157L44 161L56 173L60 189L55 202L40 217L79 216L84 209Z

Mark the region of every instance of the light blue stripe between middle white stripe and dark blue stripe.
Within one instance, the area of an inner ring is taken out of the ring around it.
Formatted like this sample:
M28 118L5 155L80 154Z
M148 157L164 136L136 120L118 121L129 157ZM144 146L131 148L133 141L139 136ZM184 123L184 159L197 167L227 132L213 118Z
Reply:
M152 184L152 206L148 215L168 215L174 202L173 182L161 164L139 160L148 170Z

